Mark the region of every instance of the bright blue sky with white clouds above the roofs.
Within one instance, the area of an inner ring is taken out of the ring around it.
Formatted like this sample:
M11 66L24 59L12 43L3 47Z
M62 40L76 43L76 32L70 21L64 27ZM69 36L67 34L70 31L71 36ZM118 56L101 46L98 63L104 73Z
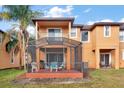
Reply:
M119 5L35 5L32 10L42 11L45 17L75 17L76 24L94 22L124 22L124 6ZM2 12L0 6L0 12ZM14 22L0 21L0 29L6 31ZM34 30L29 27L29 30Z

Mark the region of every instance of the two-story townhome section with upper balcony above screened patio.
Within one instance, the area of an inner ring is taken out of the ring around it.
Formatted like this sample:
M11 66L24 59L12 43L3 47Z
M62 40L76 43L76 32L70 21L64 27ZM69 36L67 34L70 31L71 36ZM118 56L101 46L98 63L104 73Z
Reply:
M71 17L33 19L36 25L38 64L44 62L47 68L51 63L57 62L59 66L70 70L76 62L82 61L82 25L73 24L73 21L74 18Z

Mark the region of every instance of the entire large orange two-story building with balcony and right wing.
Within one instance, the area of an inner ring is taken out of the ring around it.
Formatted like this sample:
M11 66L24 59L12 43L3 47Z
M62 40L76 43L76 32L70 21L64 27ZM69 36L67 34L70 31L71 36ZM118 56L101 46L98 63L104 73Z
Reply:
M36 27L36 62L52 62L71 70L79 62L89 68L124 67L124 26L117 22L74 24L72 17L32 19ZM42 64L40 66L40 64Z

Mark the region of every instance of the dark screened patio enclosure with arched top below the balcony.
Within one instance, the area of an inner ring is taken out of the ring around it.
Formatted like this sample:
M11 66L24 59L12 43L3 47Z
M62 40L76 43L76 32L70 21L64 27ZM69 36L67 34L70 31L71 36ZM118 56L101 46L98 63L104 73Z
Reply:
M46 69L56 62L65 70L82 69L82 43L65 37L44 37L30 41L27 53L31 62L36 62L38 69ZM29 63L27 59L27 64Z

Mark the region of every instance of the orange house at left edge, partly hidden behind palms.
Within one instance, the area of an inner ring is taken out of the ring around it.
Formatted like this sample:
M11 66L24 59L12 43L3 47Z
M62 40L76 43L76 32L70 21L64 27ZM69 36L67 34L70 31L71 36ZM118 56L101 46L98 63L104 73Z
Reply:
M6 44L9 41L9 37L0 30L0 69L15 68L20 66L20 52L14 54L12 52L6 52Z

